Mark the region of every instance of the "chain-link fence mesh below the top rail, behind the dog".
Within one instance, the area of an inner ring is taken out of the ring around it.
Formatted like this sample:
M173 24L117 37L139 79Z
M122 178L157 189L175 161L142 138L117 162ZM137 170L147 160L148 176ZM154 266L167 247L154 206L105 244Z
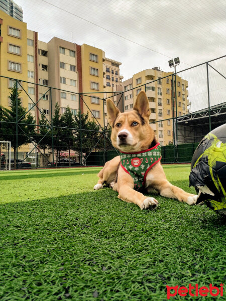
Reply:
M162 163L190 162L202 137L226 122L223 63L225 56L131 88L134 96L138 88L147 92ZM179 85L182 77L189 89ZM168 95L152 95L152 87L166 80ZM110 141L105 102L110 98L127 110L125 91L75 93L43 84L0 76L0 140L11 141L12 169L102 166L119 154Z

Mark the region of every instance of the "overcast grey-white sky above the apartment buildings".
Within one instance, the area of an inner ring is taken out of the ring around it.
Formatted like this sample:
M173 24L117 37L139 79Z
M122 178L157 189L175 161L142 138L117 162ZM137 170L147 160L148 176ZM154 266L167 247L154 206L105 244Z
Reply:
M100 48L122 62L124 80L158 66L177 71L226 54L225 0L15 0L28 29ZM211 65L225 76L226 59ZM189 81L192 111L207 106L206 66L179 74ZM210 68L210 105L226 101L225 79Z

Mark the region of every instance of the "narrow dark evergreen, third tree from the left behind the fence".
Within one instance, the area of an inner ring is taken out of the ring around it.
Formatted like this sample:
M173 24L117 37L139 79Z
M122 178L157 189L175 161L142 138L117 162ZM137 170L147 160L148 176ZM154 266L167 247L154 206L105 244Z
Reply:
M60 151L61 150L67 150L67 145L64 141L63 137L63 119L60 114L60 106L58 103L55 104L54 109L54 117L52 120L53 123L53 147L57 151L57 160L56 160L56 166L57 162L60 159Z

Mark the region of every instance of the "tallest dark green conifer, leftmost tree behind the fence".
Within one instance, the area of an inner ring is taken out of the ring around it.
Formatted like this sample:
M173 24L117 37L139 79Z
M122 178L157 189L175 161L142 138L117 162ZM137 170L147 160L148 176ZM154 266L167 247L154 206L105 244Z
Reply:
M18 101L17 101L18 98ZM14 167L16 168L17 147L28 144L35 136L35 119L31 113L26 114L27 109L22 106L20 92L17 91L16 84L10 93L10 109L5 109L3 120L7 122L5 126L5 139L11 141L14 149ZM18 112L18 140L16 135L17 129L17 112Z

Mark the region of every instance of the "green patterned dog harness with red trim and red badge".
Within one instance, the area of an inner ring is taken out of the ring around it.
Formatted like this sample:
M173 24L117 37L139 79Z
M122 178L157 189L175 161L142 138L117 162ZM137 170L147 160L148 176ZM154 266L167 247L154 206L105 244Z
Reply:
M138 153L120 153L121 166L133 178L134 189L144 189L148 172L162 158L160 144Z

